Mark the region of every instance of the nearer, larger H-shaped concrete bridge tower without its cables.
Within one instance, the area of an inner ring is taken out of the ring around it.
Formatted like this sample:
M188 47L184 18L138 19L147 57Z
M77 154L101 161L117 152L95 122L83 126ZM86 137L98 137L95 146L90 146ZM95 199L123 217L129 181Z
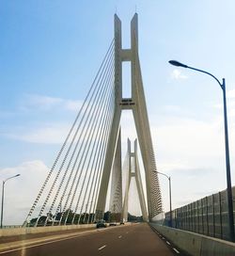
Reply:
M123 110L133 111L140 152L146 175L149 219L163 212L162 197L156 171L155 157L149 129L149 118L138 56L138 18L135 13L131 22L131 49L123 49L121 43L121 22L115 15L115 114L108 138L108 146L102 171L102 183L97 203L96 218L104 213L108 183L113 168L111 200L115 201L115 212L122 212L121 164L120 164L120 117ZM122 62L131 62L132 97L122 98ZM135 142L136 144L136 142ZM116 195L116 196L114 196ZM141 202L140 202L141 203ZM126 207L126 205L123 205ZM144 206L142 207L144 209ZM127 211L125 210L127 213ZM143 211L142 211L143 212ZM144 211L145 212L145 211ZM144 213L143 213L144 215Z

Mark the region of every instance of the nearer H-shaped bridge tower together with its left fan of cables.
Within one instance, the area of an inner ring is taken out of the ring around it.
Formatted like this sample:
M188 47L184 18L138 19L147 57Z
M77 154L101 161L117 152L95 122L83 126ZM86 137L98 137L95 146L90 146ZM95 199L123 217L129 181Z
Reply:
M122 97L123 61L131 62L131 98ZM111 171L111 212L118 218L121 215L127 217L129 186L123 201L120 139L120 117L126 109L133 112L145 169L148 207L141 184L136 141L134 152L131 152L129 145L129 160L134 164L128 169L127 182L130 184L131 177L135 178L142 214L148 221L162 213L163 209L138 56L137 14L134 14L131 23L130 49L121 46L121 22L115 15L115 40L112 40L103 58L85 102L26 216L24 226L81 224L91 223L95 217L101 219ZM33 215L38 216L32 218Z

